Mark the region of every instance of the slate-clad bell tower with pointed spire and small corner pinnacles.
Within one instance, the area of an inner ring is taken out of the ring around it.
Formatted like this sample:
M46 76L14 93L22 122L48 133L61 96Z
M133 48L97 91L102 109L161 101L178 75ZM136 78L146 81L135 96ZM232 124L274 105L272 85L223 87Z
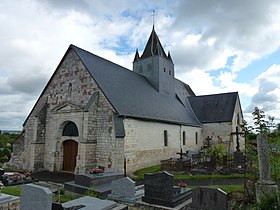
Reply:
M158 92L175 96L174 64L170 52L166 55L154 27L143 54L140 56L136 50L133 71L145 76Z

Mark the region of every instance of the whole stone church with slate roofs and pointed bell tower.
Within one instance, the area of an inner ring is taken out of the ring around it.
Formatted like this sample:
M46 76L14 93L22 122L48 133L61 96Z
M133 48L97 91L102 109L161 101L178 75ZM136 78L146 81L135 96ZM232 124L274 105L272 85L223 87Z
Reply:
M196 96L174 77L153 28L132 71L70 45L25 120L11 162L30 171L102 166L131 173L180 149L199 152L207 137L233 152L242 121L237 92Z

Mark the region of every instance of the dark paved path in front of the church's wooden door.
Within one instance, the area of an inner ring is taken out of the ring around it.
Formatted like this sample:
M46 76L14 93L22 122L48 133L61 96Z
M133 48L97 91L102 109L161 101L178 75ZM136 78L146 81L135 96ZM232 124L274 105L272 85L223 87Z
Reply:
M54 183L64 183L64 182L70 182L74 180L74 174L73 173L67 173L67 172L49 172L49 171L42 171L42 172L36 172L32 173L32 177L39 179L40 181L49 181Z

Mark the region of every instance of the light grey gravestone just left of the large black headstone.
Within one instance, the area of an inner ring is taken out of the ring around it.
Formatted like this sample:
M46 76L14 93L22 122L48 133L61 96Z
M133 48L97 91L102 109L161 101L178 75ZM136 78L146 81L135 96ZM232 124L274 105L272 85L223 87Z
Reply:
M108 199L124 203L135 203L144 195L144 186L135 187L135 182L124 177L111 182L111 194Z

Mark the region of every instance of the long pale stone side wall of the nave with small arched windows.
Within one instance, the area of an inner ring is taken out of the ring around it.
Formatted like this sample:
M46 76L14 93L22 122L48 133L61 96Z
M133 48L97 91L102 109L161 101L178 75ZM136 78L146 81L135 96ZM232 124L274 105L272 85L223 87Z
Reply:
M124 120L126 136L124 139L127 172L158 165L160 160L179 157L176 152L199 151L202 147L201 128L172 125L159 122ZM168 133L168 146L164 146L164 130ZM186 132L186 145L182 143L182 133ZM198 142L195 143L195 133Z

